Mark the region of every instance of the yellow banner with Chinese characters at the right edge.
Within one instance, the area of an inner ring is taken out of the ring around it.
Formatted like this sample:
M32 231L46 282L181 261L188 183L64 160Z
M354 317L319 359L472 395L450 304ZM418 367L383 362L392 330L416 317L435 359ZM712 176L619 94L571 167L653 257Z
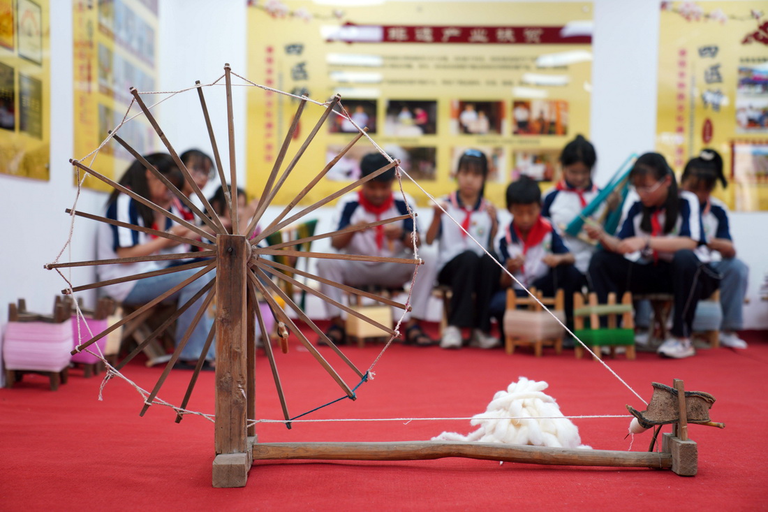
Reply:
M768 210L768 5L661 2L657 149L678 173L723 156L736 211Z

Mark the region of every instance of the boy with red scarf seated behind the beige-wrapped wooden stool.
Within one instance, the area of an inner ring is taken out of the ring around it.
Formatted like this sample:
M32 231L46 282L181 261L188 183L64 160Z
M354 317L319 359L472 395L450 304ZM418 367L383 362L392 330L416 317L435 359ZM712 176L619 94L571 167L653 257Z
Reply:
M502 291L494 295L492 314L500 319L506 307L506 288L512 286L518 297L525 297L527 288L535 287L546 296L558 288L565 295L565 316L573 323L573 295L581 286L581 274L574 267L574 255L568 251L558 230L541 216L541 189L536 181L522 176L507 187L507 208L511 223L497 238L499 261L518 282L502 272ZM523 288L525 287L525 289Z

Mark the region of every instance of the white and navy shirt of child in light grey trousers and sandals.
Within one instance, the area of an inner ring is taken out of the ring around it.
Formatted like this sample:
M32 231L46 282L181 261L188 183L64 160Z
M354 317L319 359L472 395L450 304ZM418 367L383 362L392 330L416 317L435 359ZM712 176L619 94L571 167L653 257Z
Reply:
M406 194L406 201L408 201L408 204L410 205L415 204L408 194ZM366 209L362 207L358 192L346 194L339 200L339 204L336 207L336 218L334 221L336 230L346 228L350 224L382 221L386 218L399 217L400 215L408 214L406 201L403 200L402 194L395 194L392 206L382 212L382 214L376 215L370 211L366 211ZM413 209L412 206L411 209ZM406 218L404 221L400 221L400 226L404 234L411 233L413 231L413 219ZM376 228L369 228L364 231L355 231L352 240L349 241L349 244L343 249L343 252L346 254L365 254L367 256L401 258L402 254L408 251L409 248L406 248L402 243L402 239L389 241L386 238L383 241L382 247L379 248L378 244L376 244ZM366 263L374 264L372 261L366 261Z

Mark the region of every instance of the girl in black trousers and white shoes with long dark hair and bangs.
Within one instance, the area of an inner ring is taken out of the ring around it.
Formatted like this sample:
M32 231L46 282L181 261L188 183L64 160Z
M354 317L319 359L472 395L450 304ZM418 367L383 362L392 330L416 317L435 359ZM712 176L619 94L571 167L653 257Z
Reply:
M451 309L448 326L440 346L460 348L462 327L472 328L470 343L481 348L498 345L491 335L491 315L488 302L498 282L498 265L485 254L490 250L498 229L496 209L483 197L488 159L482 151L468 149L458 159L456 181L458 190L442 199L442 208L462 223L468 233L481 243L478 246L455 222L445 219L442 209L435 206L426 241L440 240L438 251L438 281L451 287Z

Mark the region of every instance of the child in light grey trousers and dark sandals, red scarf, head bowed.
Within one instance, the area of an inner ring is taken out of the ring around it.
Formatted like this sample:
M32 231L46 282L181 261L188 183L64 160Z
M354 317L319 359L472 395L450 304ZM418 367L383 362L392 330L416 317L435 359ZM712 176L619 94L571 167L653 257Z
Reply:
M362 177L389 165L389 161L379 153L371 153L362 158L360 174ZM336 230L355 224L368 224L386 218L408 214L408 205L401 197L392 193L395 181L395 169L389 169L360 186L360 190L347 194L339 200L336 208ZM409 199L409 204L413 201ZM413 220L382 224L374 228L337 234L331 238L331 245L346 254L384 256L387 258L413 258ZM415 241L419 244L418 237ZM346 261L323 259L317 262L317 274L321 278L353 287L379 286L399 288L413 278L413 265L394 262ZM419 274L420 275L420 274ZM406 326L406 342L412 344L432 344L432 340L419 327L419 319L424 318L431 288L419 286L423 281L416 279L411 294L413 307L411 320ZM431 283L429 283L431 284ZM342 301L342 291L329 284L320 284L320 291L334 301ZM324 302L326 314L330 318L330 327L326 331L334 344L346 343L346 331L342 321L342 311L333 304Z

